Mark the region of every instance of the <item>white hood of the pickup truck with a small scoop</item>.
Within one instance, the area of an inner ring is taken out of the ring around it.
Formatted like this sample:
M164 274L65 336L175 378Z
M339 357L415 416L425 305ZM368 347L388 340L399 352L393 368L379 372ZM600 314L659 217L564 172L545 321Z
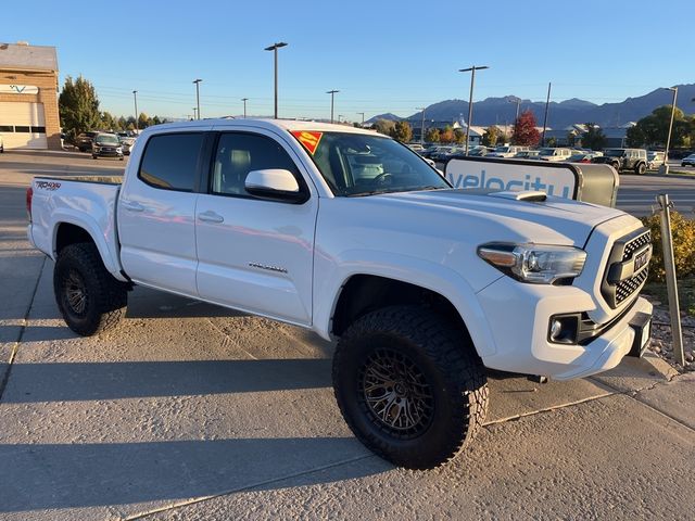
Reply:
M529 240L533 241L548 237L544 233L536 236L540 228L546 228L554 237L563 236L567 242L580 247L584 245L596 226L626 215L624 212L616 208L556 196L547 196L544 201L533 200L542 198L526 201L514 199L517 196L522 198L523 192L451 189L388 193L368 199L378 199L383 203L390 202L399 206L421 206L430 211L451 212L452 217L460 216L459 226L464 227L463 229L466 226L466 216L475 217L470 219L471 223L480 219L496 220L504 223L510 230L529 230ZM529 193L529 196L532 196L532 193ZM448 223L453 225L454 220L451 219Z

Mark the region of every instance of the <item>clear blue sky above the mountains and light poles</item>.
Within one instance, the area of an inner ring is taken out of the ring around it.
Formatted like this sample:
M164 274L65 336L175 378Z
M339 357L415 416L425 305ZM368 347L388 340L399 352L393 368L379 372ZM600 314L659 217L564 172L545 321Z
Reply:
M450 99L619 102L695 82L692 0L3 2L0 41L58 49L61 86L83 75L115 115L368 119Z

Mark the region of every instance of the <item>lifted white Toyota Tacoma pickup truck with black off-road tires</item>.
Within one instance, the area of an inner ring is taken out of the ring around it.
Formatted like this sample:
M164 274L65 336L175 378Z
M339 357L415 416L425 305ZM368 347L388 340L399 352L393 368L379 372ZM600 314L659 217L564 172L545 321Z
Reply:
M135 284L312 329L338 340L333 386L355 435L408 468L472 439L486 369L579 378L649 338L637 219L538 191L455 190L362 129L157 125L123 179L37 177L27 209L73 331L115 326Z

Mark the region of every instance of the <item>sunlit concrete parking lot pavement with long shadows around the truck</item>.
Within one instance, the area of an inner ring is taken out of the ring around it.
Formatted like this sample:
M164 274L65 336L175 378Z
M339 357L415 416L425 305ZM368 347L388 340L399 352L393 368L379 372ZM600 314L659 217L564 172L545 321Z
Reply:
M0 156L0 519L692 517L695 379L656 357L571 382L493 378L471 448L415 472L353 437L333 346L304 330L137 288L119 328L75 335L26 241L24 191L123 167ZM636 215L661 191L695 205L695 177L621 183Z

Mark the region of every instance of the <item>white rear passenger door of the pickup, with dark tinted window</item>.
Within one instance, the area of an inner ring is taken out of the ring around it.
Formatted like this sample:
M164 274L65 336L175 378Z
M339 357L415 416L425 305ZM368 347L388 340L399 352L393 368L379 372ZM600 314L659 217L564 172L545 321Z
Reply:
M203 131L152 136L118 199L121 262L136 282L197 296L195 193Z

